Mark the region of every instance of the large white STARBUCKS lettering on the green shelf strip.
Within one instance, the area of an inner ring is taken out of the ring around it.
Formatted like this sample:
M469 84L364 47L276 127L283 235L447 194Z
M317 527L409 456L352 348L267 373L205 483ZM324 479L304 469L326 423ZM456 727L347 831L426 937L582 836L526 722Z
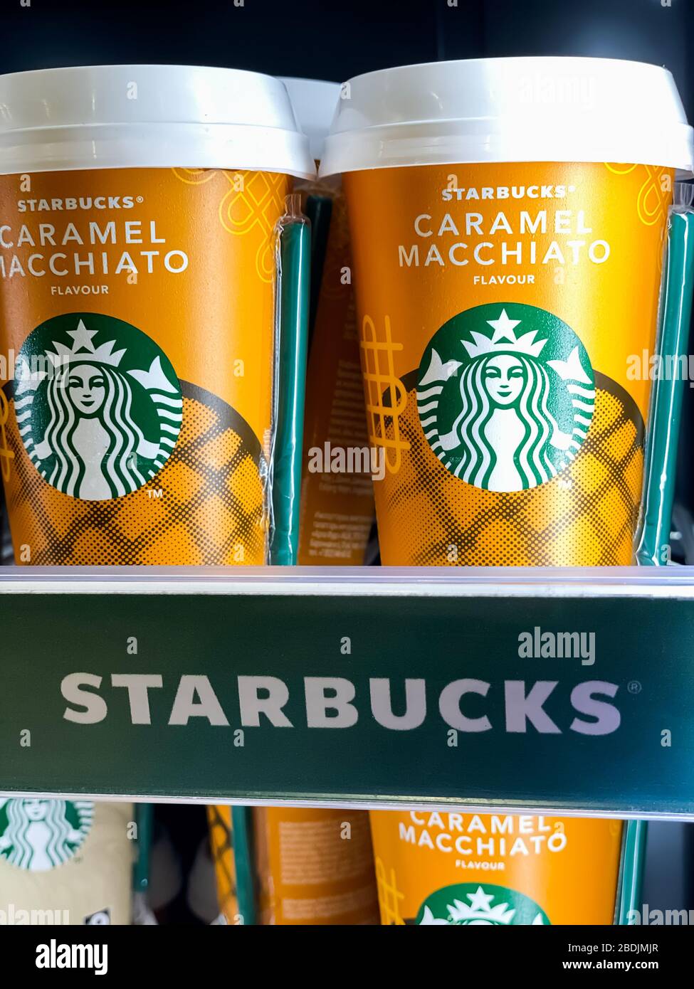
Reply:
M389 731L413 731L434 718L464 733L591 736L620 727L613 703L618 690L619 684L597 679L560 686L558 680L463 677L441 688L420 678L370 677L357 687L344 676L304 676L290 684L267 675L239 675L215 687L203 674L135 673L72 673L60 684L63 719L78 725L99 724L114 711L122 716L127 707L133 725L165 720L180 726L202 718L218 727L348 729L365 718Z

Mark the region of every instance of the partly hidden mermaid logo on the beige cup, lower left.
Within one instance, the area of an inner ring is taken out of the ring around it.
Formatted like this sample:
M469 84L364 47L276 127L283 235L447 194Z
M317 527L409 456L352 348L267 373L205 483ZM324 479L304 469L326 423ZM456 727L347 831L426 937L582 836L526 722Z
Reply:
M0 800L0 859L45 872L71 858L94 817L89 800Z

